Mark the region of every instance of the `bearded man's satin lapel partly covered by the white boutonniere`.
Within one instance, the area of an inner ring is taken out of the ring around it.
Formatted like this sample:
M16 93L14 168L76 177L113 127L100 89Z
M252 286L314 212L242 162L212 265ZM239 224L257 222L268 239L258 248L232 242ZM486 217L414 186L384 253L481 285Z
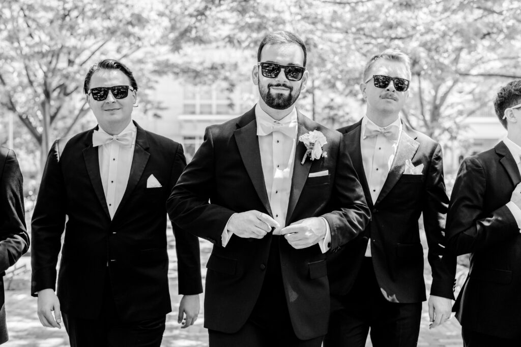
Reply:
M286 225L289 224L296 203L299 201L312 163L311 159L306 158L304 164L301 164L302 158L304 158L304 154L306 153L306 146L303 142L299 141L299 137L309 131L313 131L314 129L306 126L306 118L300 112L297 114L297 117L299 120L299 130L296 135L295 158L293 158L293 176L291 178L291 192L290 200L288 202L288 213L286 214Z

